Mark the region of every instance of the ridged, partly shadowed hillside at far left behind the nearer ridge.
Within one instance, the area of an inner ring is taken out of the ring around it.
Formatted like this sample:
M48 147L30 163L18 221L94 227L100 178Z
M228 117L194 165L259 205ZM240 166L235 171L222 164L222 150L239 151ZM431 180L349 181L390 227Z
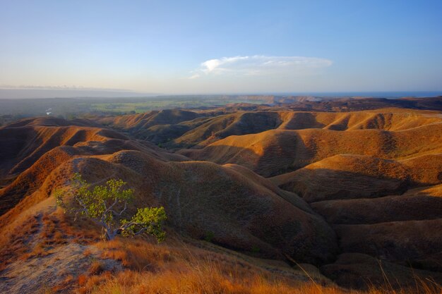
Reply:
M0 190L1 213L30 195L53 169L73 157L134 149L166 161L186 160L148 142L129 140L114 130L84 123L76 125L76 121L68 125L68 121L52 118L20 121L0 128L0 149L0 171L8 179Z

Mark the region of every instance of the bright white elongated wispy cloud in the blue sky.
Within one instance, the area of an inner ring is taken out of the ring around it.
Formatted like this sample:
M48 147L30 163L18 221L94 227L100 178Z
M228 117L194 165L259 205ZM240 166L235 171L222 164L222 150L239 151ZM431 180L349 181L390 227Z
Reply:
M332 61L304 56L234 56L210 59L192 71L190 78L201 75L275 75L278 73L303 74L332 65ZM201 74L200 74L201 73Z

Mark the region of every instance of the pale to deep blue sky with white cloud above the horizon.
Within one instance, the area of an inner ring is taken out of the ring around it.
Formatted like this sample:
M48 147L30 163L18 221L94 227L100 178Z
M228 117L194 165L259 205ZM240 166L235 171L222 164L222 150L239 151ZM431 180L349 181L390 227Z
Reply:
M438 91L441 15L441 0L0 0L0 88Z

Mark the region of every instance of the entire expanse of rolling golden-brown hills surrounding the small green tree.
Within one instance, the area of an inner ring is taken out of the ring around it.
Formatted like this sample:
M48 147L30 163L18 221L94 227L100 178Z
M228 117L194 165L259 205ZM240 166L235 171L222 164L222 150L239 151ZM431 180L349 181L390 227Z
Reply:
M0 128L0 291L106 293L126 278L127 289L163 293L160 281L195 289L207 276L220 290L206 293L441 284L440 102L234 104L9 123ZM164 206L166 243L102 243L97 227L62 214L53 193L74 173L126 181L136 194L130 212ZM76 269L60 262L72 256ZM23 281L20 270L37 274Z

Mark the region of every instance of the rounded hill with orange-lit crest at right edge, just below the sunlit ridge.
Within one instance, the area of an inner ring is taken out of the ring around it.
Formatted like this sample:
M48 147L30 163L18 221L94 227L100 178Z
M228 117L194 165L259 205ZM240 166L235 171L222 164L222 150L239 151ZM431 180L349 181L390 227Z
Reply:
M275 176L272 181L297 191L308 202L317 202L402 194L407 188L442 183L441 171L442 154L401 161L340 154Z

